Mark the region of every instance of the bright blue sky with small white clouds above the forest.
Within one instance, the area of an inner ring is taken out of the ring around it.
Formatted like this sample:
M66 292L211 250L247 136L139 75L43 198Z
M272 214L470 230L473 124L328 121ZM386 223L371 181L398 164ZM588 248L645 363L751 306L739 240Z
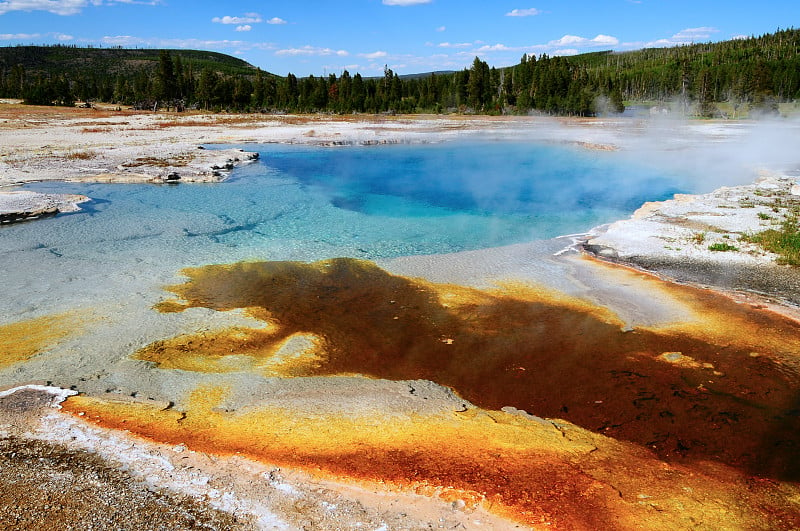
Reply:
M0 46L192 48L298 76L492 66L523 53L720 41L800 25L800 0L0 0Z

